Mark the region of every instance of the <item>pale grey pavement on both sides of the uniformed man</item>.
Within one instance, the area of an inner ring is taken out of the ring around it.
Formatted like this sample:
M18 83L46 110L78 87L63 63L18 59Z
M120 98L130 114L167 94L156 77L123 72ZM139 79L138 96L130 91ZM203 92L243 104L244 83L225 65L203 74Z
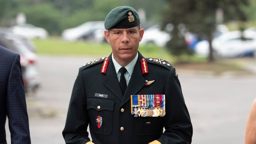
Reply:
M64 143L61 131L78 68L95 58L39 56L42 85L36 94L27 95L32 144ZM248 113L256 98L256 75L215 77L177 72L193 124L192 144L243 143Z

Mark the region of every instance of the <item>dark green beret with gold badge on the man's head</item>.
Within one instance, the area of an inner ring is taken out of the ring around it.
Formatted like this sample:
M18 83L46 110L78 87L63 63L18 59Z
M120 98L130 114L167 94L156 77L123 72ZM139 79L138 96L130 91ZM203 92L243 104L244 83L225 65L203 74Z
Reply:
M140 18L138 12L128 6L120 6L111 10L105 19L105 29L125 29L138 26Z

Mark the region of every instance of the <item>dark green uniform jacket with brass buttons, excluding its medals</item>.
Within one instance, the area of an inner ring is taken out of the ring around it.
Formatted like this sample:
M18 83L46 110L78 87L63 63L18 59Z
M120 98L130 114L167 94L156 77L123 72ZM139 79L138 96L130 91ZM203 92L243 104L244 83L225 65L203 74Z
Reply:
M147 144L154 140L162 144L191 143L192 124L175 68L166 61L163 64L145 58L148 73L142 74L141 58L139 53L124 96L111 55L106 73L101 73L103 60L79 69L62 133L67 144L90 141L88 124L95 144ZM146 80L155 82L146 86ZM165 94L165 116L134 117L130 96L137 94ZM97 116L102 117L100 128Z

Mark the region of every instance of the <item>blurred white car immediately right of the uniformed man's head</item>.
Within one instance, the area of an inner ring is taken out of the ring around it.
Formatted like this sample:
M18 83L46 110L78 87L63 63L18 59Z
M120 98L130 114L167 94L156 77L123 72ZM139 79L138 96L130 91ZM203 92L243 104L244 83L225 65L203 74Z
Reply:
M169 40L171 40L171 35L168 32L161 31L160 25L153 25L144 31L140 44L153 43L164 47Z

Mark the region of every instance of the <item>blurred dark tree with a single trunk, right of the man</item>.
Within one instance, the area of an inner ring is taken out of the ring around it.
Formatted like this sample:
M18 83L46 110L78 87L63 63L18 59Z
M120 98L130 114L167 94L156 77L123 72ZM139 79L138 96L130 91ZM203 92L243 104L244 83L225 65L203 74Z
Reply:
M172 40L167 47L172 54L181 55L190 52L185 45L184 32L196 33L199 38L210 42L209 61L214 61L211 41L219 22L230 20L245 21L247 16L243 9L248 6L248 0L165 0L166 7L162 13L164 24L172 23ZM223 10L224 18L216 19L216 10ZM219 20L219 21L218 21ZM182 43L183 42L183 43Z

